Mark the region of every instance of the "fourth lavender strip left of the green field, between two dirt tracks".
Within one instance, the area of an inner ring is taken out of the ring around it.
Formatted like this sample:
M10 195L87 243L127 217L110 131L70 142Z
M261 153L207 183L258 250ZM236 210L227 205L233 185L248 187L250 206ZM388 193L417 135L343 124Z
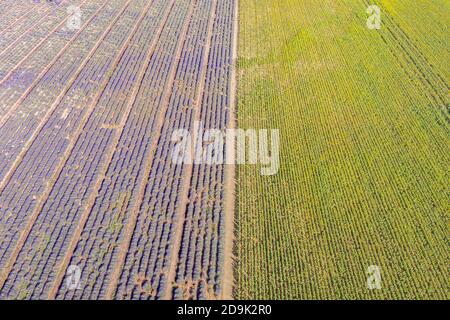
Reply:
M132 10L126 11L126 19L123 20L124 24L129 26L128 30L123 30L119 25L115 26L111 37L103 42L106 47L111 43L114 43L116 47L122 46L122 42L114 42L115 38L125 38L130 34L132 22L135 22L143 13L148 1L132 1L131 3ZM138 85L135 75L145 67L142 65L143 56L155 36L155 29L161 16L160 10L165 6L165 2L156 1L156 3L158 11L148 12L144 16L130 43L127 44L126 50L121 55L118 67L114 70L94 112L90 115L77 139L48 201L30 233L29 241L24 246L25 256L36 257L32 265L39 264L35 270L30 272L30 275L40 281L53 283L55 275L59 271L59 262L66 254L80 215L84 212L86 202L93 192L92 189L96 185L96 181L102 178L98 176L99 168L106 161L105 154L108 148L113 148L112 137L118 130L117 122L120 122L119 119L126 112L128 101L131 98L129 93L132 92L135 85ZM111 55L111 48L109 49L104 51L105 55ZM98 62L93 61L92 66L95 65L98 65ZM120 90L117 89L117 86ZM58 212L59 210L61 212ZM38 241L43 234L57 236L49 241L43 254L40 254L34 249L33 243ZM23 264L25 261L20 264L19 262L21 262L20 259L17 267L20 270L26 264ZM32 297L46 295L48 289L47 286L42 292L33 293ZM93 294L99 294L99 292Z

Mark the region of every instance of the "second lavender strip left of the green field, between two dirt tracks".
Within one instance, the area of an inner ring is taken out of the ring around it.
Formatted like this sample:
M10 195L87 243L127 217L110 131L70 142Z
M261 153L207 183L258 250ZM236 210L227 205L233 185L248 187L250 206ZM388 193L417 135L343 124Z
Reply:
M194 10L181 61L177 68L164 125L151 165L135 233L126 257L117 297L120 299L163 298L168 284L177 217L176 203L184 178L184 168L171 160L172 133L192 128L195 94L200 86L211 17L211 1L199 1ZM152 130L153 131L153 130Z

